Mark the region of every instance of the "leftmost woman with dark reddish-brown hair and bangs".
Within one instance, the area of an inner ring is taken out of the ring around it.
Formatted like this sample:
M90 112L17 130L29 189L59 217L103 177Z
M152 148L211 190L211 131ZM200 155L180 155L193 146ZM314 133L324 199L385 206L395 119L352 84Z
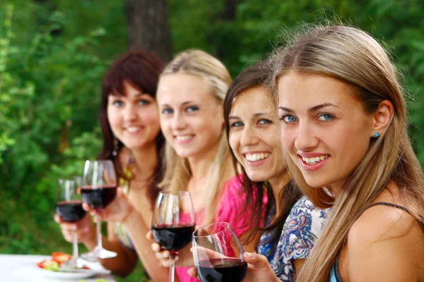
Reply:
M158 183L163 177L161 152L165 139L155 100L163 66L153 54L131 51L110 66L102 82L103 149L99 159L113 161L119 189L114 202L98 214L109 221L102 244L117 252L117 257L100 262L119 276L126 276L136 266L136 251L143 250L138 237L144 237L139 236L136 226L141 221L150 226ZM90 210L86 204L84 208ZM66 240L71 242L76 231L79 242L89 250L95 247L96 232L90 216L78 223L64 223L59 216L55 220Z

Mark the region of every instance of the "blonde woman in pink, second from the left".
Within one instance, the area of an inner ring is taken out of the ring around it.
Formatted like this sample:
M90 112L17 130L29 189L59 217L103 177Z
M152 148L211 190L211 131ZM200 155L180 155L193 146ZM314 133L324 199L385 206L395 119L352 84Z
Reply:
M257 236L247 238L251 211L241 214L246 197L232 170L224 128L223 102L230 83L223 63L204 51L183 51L165 66L157 93L160 128L167 140L162 186L190 192L197 225L227 221L243 247L253 251ZM197 281L182 267L193 266L189 248L179 252L179 281ZM153 250L164 265L169 263L170 252L159 252L158 244Z

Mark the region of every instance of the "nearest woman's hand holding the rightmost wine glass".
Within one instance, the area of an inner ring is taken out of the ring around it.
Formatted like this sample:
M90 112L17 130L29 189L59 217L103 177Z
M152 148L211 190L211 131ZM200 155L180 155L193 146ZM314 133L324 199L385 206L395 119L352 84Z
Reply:
M247 262L247 272L243 282L277 282L280 281L269 265L268 259L263 255L245 252ZM193 267L187 271L189 276L197 278L197 270Z

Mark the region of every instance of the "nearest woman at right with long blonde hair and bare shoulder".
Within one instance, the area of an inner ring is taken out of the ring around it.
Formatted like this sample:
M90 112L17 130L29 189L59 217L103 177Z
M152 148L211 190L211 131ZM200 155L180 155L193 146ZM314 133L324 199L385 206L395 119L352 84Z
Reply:
M296 281L424 281L423 171L386 51L357 28L320 26L271 61L290 171L332 207Z

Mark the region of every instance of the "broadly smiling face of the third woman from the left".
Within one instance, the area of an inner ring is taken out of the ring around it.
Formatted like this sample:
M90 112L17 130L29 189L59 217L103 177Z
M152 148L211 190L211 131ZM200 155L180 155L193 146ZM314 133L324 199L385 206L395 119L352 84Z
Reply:
M252 87L238 94L228 120L232 153L249 179L265 181L278 176L285 168L278 117L265 87Z

